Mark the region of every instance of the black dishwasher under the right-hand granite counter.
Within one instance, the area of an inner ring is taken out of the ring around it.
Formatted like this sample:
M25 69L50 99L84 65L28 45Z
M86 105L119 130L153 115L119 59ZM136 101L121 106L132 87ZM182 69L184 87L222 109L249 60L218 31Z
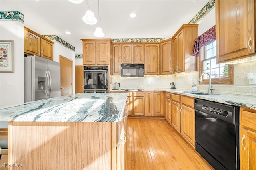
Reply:
M239 170L239 107L195 99L196 151L216 170Z

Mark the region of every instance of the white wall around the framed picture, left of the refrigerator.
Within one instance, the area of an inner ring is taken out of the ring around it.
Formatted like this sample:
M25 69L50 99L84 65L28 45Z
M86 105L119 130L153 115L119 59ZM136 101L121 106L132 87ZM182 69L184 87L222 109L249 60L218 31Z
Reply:
M14 73L0 73L0 107L24 103L24 24L1 20L1 40L14 40ZM12 85L7 82L12 81Z

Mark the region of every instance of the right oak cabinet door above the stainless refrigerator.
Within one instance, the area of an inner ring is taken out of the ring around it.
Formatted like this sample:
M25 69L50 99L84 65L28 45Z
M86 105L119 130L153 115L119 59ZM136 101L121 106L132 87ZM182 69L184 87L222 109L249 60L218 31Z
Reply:
M53 60L53 43L41 39L41 56Z

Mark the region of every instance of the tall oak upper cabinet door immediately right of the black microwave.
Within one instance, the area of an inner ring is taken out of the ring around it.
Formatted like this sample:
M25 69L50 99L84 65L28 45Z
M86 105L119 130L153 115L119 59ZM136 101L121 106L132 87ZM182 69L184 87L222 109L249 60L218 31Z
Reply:
M159 74L159 44L145 44L145 75Z

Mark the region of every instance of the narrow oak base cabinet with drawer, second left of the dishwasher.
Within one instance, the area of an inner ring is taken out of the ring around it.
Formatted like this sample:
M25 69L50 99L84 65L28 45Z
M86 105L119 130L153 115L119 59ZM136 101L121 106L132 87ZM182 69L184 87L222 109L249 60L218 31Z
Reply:
M180 96L172 94L171 98L171 125L180 132Z

